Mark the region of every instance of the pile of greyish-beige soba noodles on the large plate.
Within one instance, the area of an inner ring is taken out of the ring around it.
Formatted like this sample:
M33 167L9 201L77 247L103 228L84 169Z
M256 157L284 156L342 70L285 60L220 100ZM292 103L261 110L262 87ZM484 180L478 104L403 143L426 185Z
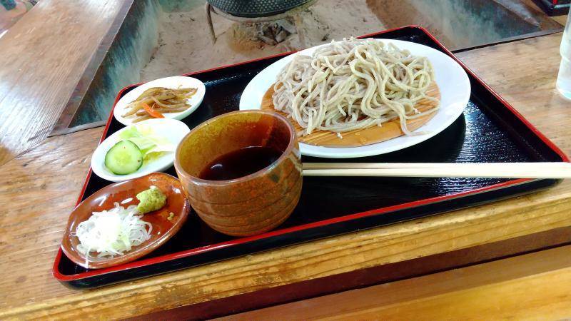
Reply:
M433 113L420 112L415 103L434 80L428 58L412 56L393 44L375 39L343 39L297 54L278 74L273 106L295 119L309 135L315 129L342 133L381 126L400 118L410 135L408 119Z

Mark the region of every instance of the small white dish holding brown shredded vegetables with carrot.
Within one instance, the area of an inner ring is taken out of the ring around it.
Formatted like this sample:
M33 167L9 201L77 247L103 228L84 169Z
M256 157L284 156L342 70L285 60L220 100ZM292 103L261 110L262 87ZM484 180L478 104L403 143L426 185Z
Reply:
M153 81L149 81L148 83L143 83L141 86L134 88L132 91L126 93L125 96L121 97L121 99L119 99L117 102L115 109L113 109L113 116L115 116L115 119L125 126L131 125L134 118L125 118L122 116L127 112L125 107L128 105L128 103L134 101L138 96L141 96L141 93L146 91L148 88L153 87L165 87L173 89L191 87L198 89L191 98L186 100L191 104L191 107L189 107L186 111L181 111L180 113L163 113L165 118L173 118L178 120L181 120L193 113L193 111L196 111L196 108L198 108L198 106L200 106L202 103L204 93L206 93L206 87L204 87L204 83L196 78L173 76L155 79Z

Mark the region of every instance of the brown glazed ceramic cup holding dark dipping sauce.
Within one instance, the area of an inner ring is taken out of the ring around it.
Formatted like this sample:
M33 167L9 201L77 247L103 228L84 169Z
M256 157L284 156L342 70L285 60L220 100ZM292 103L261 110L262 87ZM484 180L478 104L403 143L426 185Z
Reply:
M198 178L219 156L249 146L282 152L256 173L232 180ZM271 111L234 111L194 128L176 149L174 165L191 206L214 230L246 236L285 221L301 193L301 155L295 129Z

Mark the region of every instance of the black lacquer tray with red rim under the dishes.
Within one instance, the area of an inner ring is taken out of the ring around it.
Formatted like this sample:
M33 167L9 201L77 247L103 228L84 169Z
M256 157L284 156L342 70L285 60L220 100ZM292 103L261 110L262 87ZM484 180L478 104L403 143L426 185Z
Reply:
M428 31L418 26L364 37L413 41L452 56ZM251 78L286 54L185 75L203 81L206 84L206 96L201 106L183 121L193 128L208 118L237 110L241 93ZM568 161L556 146L517 111L468 68L466 71L472 86L470 102L463 116L445 131L402 151L340 161ZM138 85L124 88L117 100L136 86ZM101 140L120 128L123 125L113 118L111 112ZM303 161L333 160L304 157ZM167 173L176 175L173 168L167 170ZM111 182L91 175L90 171L79 201L109 183ZM556 183L558 180L305 177L297 208L283 225L271 232L248 238L231 238L208 228L196 215L190 215L183 228L168 243L137 261L101 270L86 270L71 262L59 250L53 272L58 280L71 287L97 287L490 203L549 188Z

